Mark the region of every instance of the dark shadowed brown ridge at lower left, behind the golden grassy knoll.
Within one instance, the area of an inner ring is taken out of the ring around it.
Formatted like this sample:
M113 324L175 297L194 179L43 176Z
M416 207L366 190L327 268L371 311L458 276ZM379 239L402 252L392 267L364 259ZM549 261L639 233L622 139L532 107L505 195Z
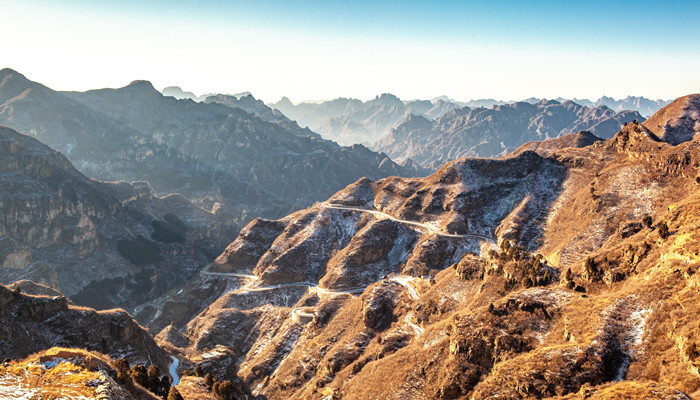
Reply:
M96 311L70 305L63 296L33 296L0 285L0 353L22 358L54 346L76 347L126 358L129 363L170 360L151 335L124 310Z

